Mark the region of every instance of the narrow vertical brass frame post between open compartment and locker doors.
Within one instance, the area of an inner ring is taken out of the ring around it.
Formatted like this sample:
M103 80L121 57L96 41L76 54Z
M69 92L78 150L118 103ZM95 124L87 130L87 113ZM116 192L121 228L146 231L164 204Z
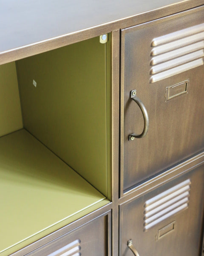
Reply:
M111 88L111 102L112 102L112 140L111 140L111 148L112 148L112 178L111 180L111 187L112 187L112 219L110 223L112 225L112 254L110 255L119 255L119 247L118 247L118 240L119 240L119 232L118 232L118 223L119 223L119 203L118 203L118 195L119 195L119 62L120 62L120 30L112 32L112 37L109 38L112 42L112 74L111 74L111 81L112 81L112 88ZM109 255L109 254L108 254Z

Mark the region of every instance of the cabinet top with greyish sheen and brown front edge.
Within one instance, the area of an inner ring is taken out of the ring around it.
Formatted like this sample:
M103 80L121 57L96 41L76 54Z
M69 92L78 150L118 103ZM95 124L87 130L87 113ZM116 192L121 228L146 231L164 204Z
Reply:
M202 4L204 0L0 0L0 56L6 56L0 64Z

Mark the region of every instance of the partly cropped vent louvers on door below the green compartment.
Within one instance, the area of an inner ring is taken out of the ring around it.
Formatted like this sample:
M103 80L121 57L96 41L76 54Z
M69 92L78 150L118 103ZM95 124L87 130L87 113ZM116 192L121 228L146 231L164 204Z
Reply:
M64 247L60 248L59 250L50 253L47 256L81 256L80 250L80 243L79 239L71 242L70 244L65 245Z

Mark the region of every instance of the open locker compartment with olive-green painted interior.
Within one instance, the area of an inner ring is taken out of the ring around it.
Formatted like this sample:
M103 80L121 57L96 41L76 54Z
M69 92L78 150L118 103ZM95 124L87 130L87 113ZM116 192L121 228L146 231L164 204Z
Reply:
M0 66L2 256L108 204L110 46L97 37Z

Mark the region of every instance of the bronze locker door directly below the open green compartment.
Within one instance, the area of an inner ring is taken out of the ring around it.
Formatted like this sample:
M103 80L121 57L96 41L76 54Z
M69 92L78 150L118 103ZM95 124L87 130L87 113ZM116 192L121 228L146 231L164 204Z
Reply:
M109 218L110 213L95 218L26 256L107 256L111 251Z

